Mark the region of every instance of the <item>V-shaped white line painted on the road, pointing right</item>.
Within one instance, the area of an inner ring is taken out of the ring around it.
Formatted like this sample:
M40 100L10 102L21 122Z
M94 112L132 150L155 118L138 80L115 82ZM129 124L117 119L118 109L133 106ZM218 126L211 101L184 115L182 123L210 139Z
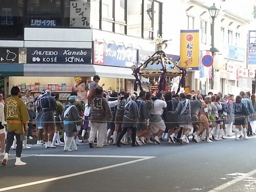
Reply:
M51 182L51 181L56 181L56 180L60 180L60 179L76 177L76 176L82 175L82 174L92 173L92 172L96 172L96 171L103 171L103 170L111 169L111 168L114 168L114 167L129 165L129 164L132 164L132 163L137 163L137 162L140 162L140 161L145 161L145 160L148 160L148 159L151 159L151 158L155 158L154 156L143 157L143 156L110 156L110 155L103 155L103 156L101 156L101 155L35 155L35 156L41 156L41 157L58 157L58 156L59 157L106 157L106 158L115 157L115 158L139 158L139 159L129 161L129 162L124 162L124 163L118 163L118 164L115 164L115 165L100 167L100 168L92 169L92 170L88 170L88 171L82 171L82 172L78 172L78 173L63 175L63 176L60 176L60 177L44 179L44 180L41 180L41 181L34 181L34 182L24 183L24 184L21 184L21 185L0 188L0 191L18 189L18 188L21 188L21 187L28 187L28 186L38 185L38 184Z

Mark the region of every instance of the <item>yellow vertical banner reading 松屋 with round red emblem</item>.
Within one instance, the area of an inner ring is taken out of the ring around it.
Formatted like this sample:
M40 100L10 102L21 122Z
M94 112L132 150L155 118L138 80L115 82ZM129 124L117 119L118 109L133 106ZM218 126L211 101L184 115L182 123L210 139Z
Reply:
M199 30L180 30L180 67L199 70Z

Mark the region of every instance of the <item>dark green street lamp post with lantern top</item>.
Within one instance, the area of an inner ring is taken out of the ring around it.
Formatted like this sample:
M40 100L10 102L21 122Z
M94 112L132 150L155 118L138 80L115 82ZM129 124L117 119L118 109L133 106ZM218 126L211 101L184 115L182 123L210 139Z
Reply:
M219 14L219 9L215 7L215 3L213 3L213 6L208 8L208 11L211 15L212 18L212 25L211 25L211 36L212 36L212 41L211 41L211 49L210 52L212 53L212 57L214 57L215 52L219 52L217 48L214 47L214 20L217 18L217 15ZM214 89L214 69L212 66L212 79L211 79L211 89Z

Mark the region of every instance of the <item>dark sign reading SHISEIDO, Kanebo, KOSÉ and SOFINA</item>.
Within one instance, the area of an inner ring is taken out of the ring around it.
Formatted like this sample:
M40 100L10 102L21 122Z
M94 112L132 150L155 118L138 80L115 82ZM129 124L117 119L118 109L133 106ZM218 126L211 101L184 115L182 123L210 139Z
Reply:
M27 63L88 64L91 63L91 49L27 48Z

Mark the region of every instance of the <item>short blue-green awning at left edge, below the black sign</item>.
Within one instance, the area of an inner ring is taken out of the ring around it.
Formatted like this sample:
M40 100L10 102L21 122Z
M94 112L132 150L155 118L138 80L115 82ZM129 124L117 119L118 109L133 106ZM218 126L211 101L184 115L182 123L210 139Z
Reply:
M0 64L0 76L23 76L23 64L5 63Z

